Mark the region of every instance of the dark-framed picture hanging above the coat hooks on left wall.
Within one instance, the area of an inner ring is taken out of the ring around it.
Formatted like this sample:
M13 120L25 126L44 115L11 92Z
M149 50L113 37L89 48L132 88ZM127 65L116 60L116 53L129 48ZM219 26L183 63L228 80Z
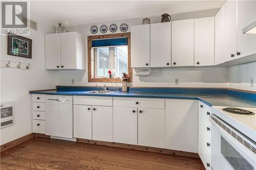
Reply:
M32 39L9 34L7 46L8 55L32 58Z

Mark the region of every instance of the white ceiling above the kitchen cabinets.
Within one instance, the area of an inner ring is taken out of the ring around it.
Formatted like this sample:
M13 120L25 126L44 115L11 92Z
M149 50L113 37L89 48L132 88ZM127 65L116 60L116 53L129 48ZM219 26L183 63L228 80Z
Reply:
M72 26L221 8L226 1L31 1L33 16Z

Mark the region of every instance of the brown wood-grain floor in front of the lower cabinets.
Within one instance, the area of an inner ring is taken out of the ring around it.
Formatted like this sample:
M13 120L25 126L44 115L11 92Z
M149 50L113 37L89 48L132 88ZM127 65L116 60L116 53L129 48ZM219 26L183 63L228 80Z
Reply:
M4 169L204 169L200 159L33 138L1 153Z

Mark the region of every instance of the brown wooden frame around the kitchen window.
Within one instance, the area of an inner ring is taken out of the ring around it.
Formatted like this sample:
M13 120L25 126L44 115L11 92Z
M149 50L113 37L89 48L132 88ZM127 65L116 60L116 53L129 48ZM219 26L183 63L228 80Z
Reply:
M133 81L133 73L131 68L131 33L117 33L117 34L107 34L107 35L94 35L87 37L88 43L88 82L121 82L119 78L92 78L91 74L91 50L92 50L92 40L94 39L105 39L105 38L121 38L127 37L127 48L128 48L128 71L129 71L129 81Z

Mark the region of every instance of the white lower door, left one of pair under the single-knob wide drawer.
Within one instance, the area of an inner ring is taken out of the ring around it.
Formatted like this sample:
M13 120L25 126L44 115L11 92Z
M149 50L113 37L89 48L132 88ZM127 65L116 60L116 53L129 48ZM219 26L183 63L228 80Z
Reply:
M113 141L118 143L137 143L137 108L113 108Z

